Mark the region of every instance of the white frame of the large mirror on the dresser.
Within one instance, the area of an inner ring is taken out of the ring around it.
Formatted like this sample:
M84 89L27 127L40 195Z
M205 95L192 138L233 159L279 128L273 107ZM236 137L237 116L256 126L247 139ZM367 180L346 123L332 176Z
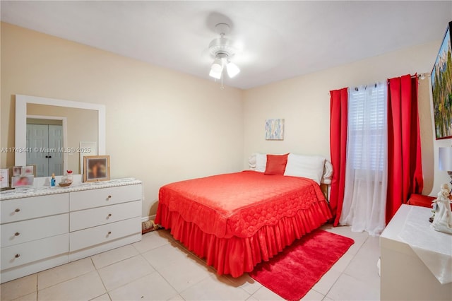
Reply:
M16 150L25 150L27 147L27 104L29 103L97 111L97 151L99 155L105 155L105 105L19 94L16 94ZM25 151L16 151L14 155L14 164L16 166L27 165L27 153ZM63 163L64 170L67 170L67 164L66 158Z

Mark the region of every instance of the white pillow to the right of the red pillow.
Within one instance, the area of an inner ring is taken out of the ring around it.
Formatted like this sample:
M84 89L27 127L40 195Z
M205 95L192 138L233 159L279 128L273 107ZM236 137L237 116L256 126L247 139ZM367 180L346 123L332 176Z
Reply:
M318 155L295 155L287 156L287 165L284 175L292 177L307 177L313 179L320 185L323 175L325 158Z

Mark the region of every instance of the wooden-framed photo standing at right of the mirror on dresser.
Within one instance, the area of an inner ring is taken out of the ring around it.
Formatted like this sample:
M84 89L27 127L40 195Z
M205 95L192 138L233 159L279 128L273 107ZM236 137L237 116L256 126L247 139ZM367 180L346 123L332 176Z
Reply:
M83 182L108 181L109 179L109 155L85 155L83 157Z

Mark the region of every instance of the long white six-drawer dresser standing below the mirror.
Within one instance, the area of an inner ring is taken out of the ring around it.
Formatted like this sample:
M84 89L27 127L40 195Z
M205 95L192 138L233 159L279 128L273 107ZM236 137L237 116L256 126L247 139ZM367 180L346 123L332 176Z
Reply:
M0 194L1 283L141 240L136 179Z

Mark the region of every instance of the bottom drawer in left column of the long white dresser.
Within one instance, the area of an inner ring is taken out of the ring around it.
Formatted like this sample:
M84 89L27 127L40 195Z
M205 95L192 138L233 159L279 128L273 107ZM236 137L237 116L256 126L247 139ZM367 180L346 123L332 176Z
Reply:
M69 234L66 233L1 248L1 270L67 253L68 241Z

